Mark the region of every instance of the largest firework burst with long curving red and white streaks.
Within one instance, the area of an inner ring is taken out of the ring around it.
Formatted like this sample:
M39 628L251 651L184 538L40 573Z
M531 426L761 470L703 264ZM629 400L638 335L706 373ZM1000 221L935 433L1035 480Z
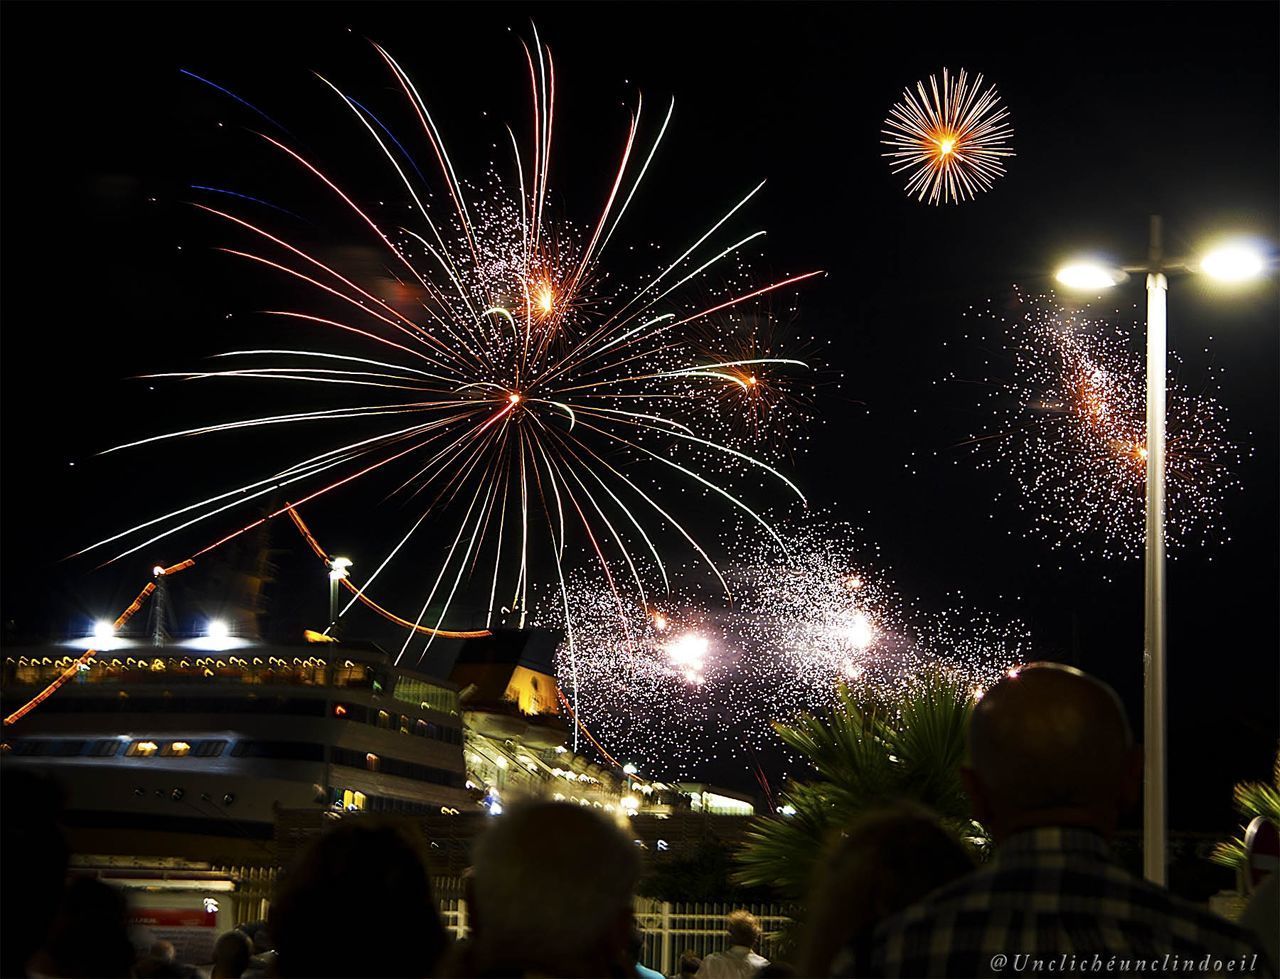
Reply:
M383 561L358 562L374 568L358 595L424 527L444 544L443 558L431 558L424 576L425 598L401 655L415 632L443 626L463 582L472 578L486 593L489 619L497 609L511 609L522 623L538 568L554 566L556 580L563 582L566 549L573 540L586 544L609 590L630 580L640 608L649 601L649 582L641 581L637 562L644 555L655 568L655 585L667 587L667 539L691 548L718 576L684 517L663 502L667 484L685 482L736 508L754 531L765 534L772 534L765 518L735 489L736 481L764 474L799 495L748 439L724 426L726 412L705 408L726 379L805 366L764 351L707 353L708 334L736 329L735 317L754 316L765 297L819 274L763 285L744 278L744 255L763 232L730 235L728 228L763 184L732 202L655 271L622 285L604 270L602 256L640 188L673 105L645 129L648 114L637 99L603 206L577 228L550 218L556 69L536 35L525 49L531 139L521 146L508 131L509 166L493 170L479 186L457 175L419 90L387 50L374 47L404 99L407 118L439 164L430 188L381 119L323 78L325 95L394 180L396 198L379 202L385 210L340 188L317 163L280 139L261 138L369 234L394 282L360 282L280 232L221 205L196 205L243 242L224 251L284 276L314 301L311 307L268 315L300 338L320 340L315 347L302 339L288 349L233 351L221 354L230 366L161 375L292 384L351 397L334 407L215 422L116 448L298 425L347 426L346 434L317 454L300 456L255 482L93 548L125 541L118 544L124 549L116 557L123 557L268 494L291 494L296 505L375 472L392 477L397 491L420 498L422 505ZM648 142L641 132L650 133ZM390 210L401 216L384 218ZM362 347L348 353L339 340ZM358 435L349 427L356 424L362 426ZM138 543L141 536L146 540ZM566 594L558 603L568 613L572 644L571 603ZM614 601L616 616L620 608ZM676 674L703 676L705 645L699 651L675 641L668 649ZM576 680L567 686L576 690Z

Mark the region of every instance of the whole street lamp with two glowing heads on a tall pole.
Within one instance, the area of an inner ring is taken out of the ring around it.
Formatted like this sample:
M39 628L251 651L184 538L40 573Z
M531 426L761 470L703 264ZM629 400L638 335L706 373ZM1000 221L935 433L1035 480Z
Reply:
M1147 550L1143 644L1143 819L1142 860L1148 880L1165 883L1165 342L1169 279L1175 271L1204 274L1222 282L1260 275L1266 260L1254 248L1230 244L1199 261L1165 257L1158 215L1151 219L1146 265L1121 269L1073 262L1056 274L1070 289L1107 289L1142 273L1147 278Z

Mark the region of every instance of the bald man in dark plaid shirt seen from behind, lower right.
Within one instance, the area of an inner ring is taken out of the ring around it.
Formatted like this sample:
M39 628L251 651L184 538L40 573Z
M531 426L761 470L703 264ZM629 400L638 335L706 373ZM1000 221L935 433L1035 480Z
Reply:
M872 975L1274 975L1248 933L1114 861L1106 841L1142 769L1110 687L1024 667L974 708L969 760L996 857L883 921Z

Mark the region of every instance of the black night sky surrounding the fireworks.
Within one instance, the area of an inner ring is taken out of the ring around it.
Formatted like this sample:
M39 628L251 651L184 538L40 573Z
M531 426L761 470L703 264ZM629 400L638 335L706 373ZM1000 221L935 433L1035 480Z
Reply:
M212 252L227 237L182 203L189 186L242 188L316 214L314 191L289 184L296 175L246 133L261 120L179 69L261 106L376 198L385 168L355 148L352 120L311 72L385 97L388 76L364 37L387 45L436 111L458 169L475 173L494 156L495 123L524 123L517 38L534 18L557 59L553 183L567 212L598 206L636 87L654 105L675 95L627 237L675 247L768 178L746 221L768 229L764 270L827 270L799 293L795 326L817 338L831 380L794 465L814 505L864 526L922 604L942 607L963 589L970 604L1025 621L1042 658L1115 685L1138 723L1140 562L1082 559L1024 537L1011 480L955 448L980 427L973 398L936 381L948 371L982 376L987 351L965 339L966 310L1002 306L1015 284L1050 288L1051 270L1076 251L1142 260L1149 214L1164 215L1170 253L1228 230L1280 242L1277 12L1270 3L8 4L6 639L72 635L114 614L154 559L177 559L211 532L102 571L61 558L261 472L279 449L244 438L93 457L238 411L210 389L197 397L132 380L251 346L246 331L260 328L247 316L264 291L279 294L278 283ZM928 207L890 174L879 131L902 87L943 65L998 84L1018 156L992 192ZM1133 280L1114 306L1143 301ZM1234 293L1174 279L1169 319L1183 379L1221 369L1230 434L1252 448L1243 491L1226 500L1230 540L1169 567L1171 823L1220 829L1233 822L1231 782L1265 777L1276 749L1276 279ZM993 502L997 491L1007 498ZM397 526L396 512L366 509L376 502L357 493L310 516L347 535L328 546L371 555ZM320 573L291 530L271 544L285 549L282 578L294 582L282 585L279 607L320 622Z

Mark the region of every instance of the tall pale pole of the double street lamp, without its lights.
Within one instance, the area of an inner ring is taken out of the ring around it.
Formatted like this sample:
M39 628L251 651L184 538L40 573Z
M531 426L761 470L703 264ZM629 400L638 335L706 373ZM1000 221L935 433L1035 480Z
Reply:
M1147 269L1147 550L1143 642L1143 873L1165 884L1165 347L1169 280L1160 218Z

